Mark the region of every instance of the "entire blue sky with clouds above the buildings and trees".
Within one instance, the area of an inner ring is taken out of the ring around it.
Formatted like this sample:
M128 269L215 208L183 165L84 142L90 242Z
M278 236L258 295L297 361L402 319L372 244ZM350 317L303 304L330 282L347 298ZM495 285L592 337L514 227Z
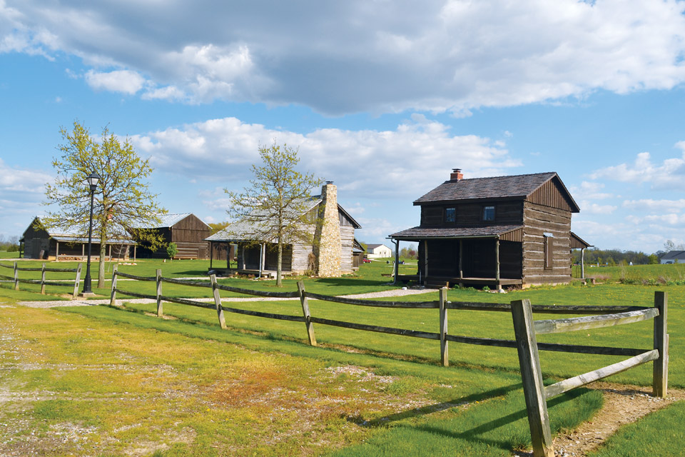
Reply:
M258 146L300 148L382 243L448 179L557 171L599 248L685 243L682 1L0 0L0 234L44 207L59 126L151 157L225 215Z

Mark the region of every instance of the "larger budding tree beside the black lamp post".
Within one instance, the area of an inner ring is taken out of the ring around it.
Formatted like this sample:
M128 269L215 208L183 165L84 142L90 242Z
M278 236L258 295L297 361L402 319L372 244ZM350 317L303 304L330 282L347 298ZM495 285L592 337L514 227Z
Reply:
M161 246L158 233L138 228L156 226L161 222L158 215L166 211L146 181L152 173L149 159L136 154L128 137L121 142L104 127L98 142L78 121L73 122L71 131L60 127L59 133L64 144L57 147L61 156L52 162L57 177L45 190L44 204L51 210L41 221L47 228L66 227L70 233L87 238L91 195L86 176L93 171L101 176L93 206L93 236L100 238L101 288L105 285L106 242L131 238L135 233L139 240L155 248Z

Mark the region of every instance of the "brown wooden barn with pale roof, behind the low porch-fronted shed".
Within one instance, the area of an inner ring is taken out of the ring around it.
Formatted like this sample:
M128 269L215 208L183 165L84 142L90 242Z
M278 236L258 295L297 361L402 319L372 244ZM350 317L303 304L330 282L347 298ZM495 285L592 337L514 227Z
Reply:
M167 258L166 246L176 243L178 253L174 258L209 258L209 246L205 238L211 233L210 227L198 216L191 213L162 214L160 224L153 227L139 227L154 230L163 238L163 246L151 250L141 241L138 246L138 257Z

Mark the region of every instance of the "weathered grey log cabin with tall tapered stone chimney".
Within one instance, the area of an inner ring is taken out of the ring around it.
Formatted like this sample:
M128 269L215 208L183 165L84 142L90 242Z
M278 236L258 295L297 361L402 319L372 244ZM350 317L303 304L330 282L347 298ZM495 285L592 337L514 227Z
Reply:
M325 211L325 208L330 211ZM330 276L340 276L340 274L357 270L362 251L361 245L355 243L355 229L361 226L338 204L336 186L325 184L322 194L313 196L308 201L305 214L310 222L305 229L310 231L316 239L316 246L305 243L284 246L281 266L283 273L302 274L307 271L321 271L320 252L326 249L335 251L333 256L335 266L332 268L337 273ZM329 215L326 217L331 219L330 224L323 225L333 230L332 235L322 236L320 233L322 224L318 224L318 221L321 220L319 219L321 214ZM228 256L228 261L225 263L223 258L220 258L219 262L215 262L215 258L212 258L210 270L273 276L278 266L278 244L273 240L254 240L250 233L253 233L250 224L234 223L206 238L212 246L210 248L212 252L217 251L216 245L223 244L227 246L224 251L231 251L235 256ZM332 246L332 243L339 247ZM326 257L330 258L330 256ZM232 258L237 260L233 266L230 264ZM323 267L326 268L326 266Z

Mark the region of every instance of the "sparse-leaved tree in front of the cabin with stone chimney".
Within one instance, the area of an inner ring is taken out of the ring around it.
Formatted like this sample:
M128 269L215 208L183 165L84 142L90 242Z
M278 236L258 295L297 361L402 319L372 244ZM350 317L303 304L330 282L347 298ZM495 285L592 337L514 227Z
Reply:
M296 242L312 243L309 230L312 221L307 219L310 209L310 191L323 183L313 174L295 170L300 162L299 149L288 145L260 146L261 166L252 166L254 179L242 192L224 189L228 194L228 214L233 222L251 227L247 234L253 243L277 243L278 261L276 286L282 285L283 246ZM230 231L230 226L228 226ZM245 236L245 233L241 233Z

